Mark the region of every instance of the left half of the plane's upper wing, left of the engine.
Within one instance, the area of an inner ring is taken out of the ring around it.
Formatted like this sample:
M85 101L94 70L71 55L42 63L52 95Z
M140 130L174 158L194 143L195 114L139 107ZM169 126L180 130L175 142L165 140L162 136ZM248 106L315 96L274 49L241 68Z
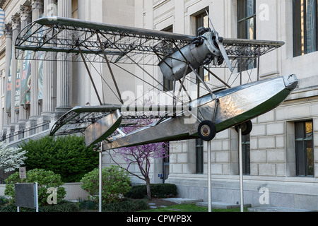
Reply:
M83 54L93 54L95 59L92 61L96 62L105 60L103 48L112 63L143 64L145 55L171 54L177 47L189 44L193 38L72 18L40 18L20 31L16 39L16 58L25 59L31 55L29 58L36 59L32 52L62 52L65 54L57 55L56 60L72 61L74 56L78 57L78 48L81 48ZM45 59L49 56L52 54L46 54ZM147 61L150 62L152 57Z

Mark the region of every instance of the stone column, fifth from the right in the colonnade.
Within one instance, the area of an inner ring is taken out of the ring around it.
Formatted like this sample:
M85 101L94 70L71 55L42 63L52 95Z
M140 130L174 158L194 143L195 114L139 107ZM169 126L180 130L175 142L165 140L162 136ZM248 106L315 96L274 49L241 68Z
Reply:
M16 60L15 52L15 40L20 32L20 18L18 16L12 16L12 57L11 57L11 124L18 124L18 110L16 110L16 81L18 72L18 61ZM17 90L18 92L18 90Z

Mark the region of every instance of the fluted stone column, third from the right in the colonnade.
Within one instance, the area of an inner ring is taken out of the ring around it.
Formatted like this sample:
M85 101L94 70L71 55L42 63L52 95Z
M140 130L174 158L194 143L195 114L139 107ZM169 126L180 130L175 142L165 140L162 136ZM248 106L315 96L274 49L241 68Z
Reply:
M43 1L42 0L32 0L32 20L37 20L43 11ZM35 28L33 28L35 29ZM35 53L36 54L36 53ZM31 102L30 102L30 121L36 121L40 116L40 105L37 100L37 61L31 61ZM35 124L33 122L31 124Z

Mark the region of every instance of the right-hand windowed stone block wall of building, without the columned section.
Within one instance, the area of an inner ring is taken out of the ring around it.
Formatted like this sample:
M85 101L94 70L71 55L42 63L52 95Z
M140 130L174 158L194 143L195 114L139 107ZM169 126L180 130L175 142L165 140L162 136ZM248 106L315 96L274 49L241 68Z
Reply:
M243 138L244 197L245 203L252 206L318 209L318 75L314 64L318 52L314 28L317 19L313 19L316 6L315 1L291 0L158 0L139 1L135 6L139 11L136 25L143 28L172 28L173 32L196 35L206 9L223 37L285 42L280 49L261 57L259 78L295 74L298 88L281 106L253 119L252 133ZM213 72L230 81L227 69ZM243 81L249 76L255 81L257 73L257 69L243 72ZM206 77L210 84L215 82L213 76L204 74ZM189 90L195 90L196 84L187 85ZM237 203L237 132L228 129L218 133L211 143L212 199ZM206 143L192 140L170 145L170 173L165 182L177 184L179 196L206 201ZM268 200L260 201L264 191L269 192Z

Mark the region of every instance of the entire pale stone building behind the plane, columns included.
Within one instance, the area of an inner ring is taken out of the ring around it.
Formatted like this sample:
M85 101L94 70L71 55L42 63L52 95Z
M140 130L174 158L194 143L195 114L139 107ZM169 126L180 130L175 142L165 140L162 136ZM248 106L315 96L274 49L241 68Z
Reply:
M7 112L5 88L10 68L8 62L11 61L7 49L13 47L14 37L25 23L39 18L42 13L52 13L48 6L57 4L57 16L187 35L196 35L199 26L208 25L207 10L214 27L223 37L285 42L280 49L261 57L258 69L255 68L258 62L242 69L242 83L256 81L257 77L266 79L289 74L295 74L299 79L298 88L290 97L271 112L253 119L252 133L243 138L244 198L245 203L251 203L252 206L318 210L317 1L7 0L0 1L0 4L5 11L6 24L5 35L0 38L0 126L6 139L11 137L10 134L18 134L18 131L43 122L52 126L63 112L76 105L86 105L87 102L98 105L83 65L76 62L45 63L43 71L46 73L42 85L46 88L43 88L42 100L31 96L31 100L36 100L35 105L20 105L18 111L13 108ZM13 60L11 64L16 65L17 70L17 65L22 63ZM101 69L102 73L107 73L105 66L101 66ZM129 69L144 76L143 71L136 66ZM14 69L12 71L17 73ZM138 93L140 87L148 89L129 75L116 72L121 76L121 90ZM165 82L158 70L153 69L153 72L159 81ZM232 86L240 83L233 79L236 75L228 69L213 69L213 73ZM201 75L212 89L220 88L206 71L201 71ZM37 74L32 76L34 78L31 81L36 81ZM97 73L93 74L93 78L100 80ZM186 86L189 92L198 93L194 75L190 76ZM31 85L31 93L36 87ZM98 90L104 93L105 103L117 103L105 85L98 83ZM199 94L203 95L204 90L199 89ZM11 102L14 102L13 97ZM27 132L31 130L25 131L24 138L35 136ZM45 133L47 128L41 127L37 132L42 131ZM14 143L19 139L14 136L9 141ZM240 201L238 145L237 132L233 128L218 133L212 141L213 201ZM177 184L180 197L207 201L207 151L206 143L199 140L170 143L169 160L153 162L151 182ZM104 155L103 164L112 164L110 157ZM141 181L133 179L133 182ZM266 199L262 199L264 192L268 194Z

